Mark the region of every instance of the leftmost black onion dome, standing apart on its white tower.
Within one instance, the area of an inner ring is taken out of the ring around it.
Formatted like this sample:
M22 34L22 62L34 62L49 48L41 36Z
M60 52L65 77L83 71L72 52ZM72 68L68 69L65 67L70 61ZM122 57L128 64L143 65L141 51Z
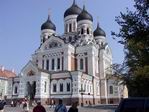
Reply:
M56 31L56 26L55 26L55 24L51 21L51 19L50 19L49 16L48 16L47 21L41 25L41 30L45 30L45 29L51 29L51 30Z

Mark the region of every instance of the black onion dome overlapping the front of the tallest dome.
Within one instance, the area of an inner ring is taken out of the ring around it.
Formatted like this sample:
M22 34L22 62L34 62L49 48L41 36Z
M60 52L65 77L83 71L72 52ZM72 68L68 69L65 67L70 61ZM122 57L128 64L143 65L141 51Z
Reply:
M91 14L89 14L86 9L85 9L85 6L83 6L83 10L82 12L78 15L77 17L77 22L78 21L81 21L81 20L90 20L90 21L93 21L93 17Z

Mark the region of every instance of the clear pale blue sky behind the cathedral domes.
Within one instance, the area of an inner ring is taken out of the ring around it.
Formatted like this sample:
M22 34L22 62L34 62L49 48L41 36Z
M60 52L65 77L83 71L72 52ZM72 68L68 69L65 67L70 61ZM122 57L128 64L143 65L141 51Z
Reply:
M73 0L0 0L0 66L14 69L19 73L31 60L31 55L40 45L41 25L51 19L56 25L57 34L64 32L64 12ZM113 53L113 63L122 63L123 46L112 39L111 31L118 32L115 17L133 10L133 0L76 0L82 8L93 16L93 27L97 21L106 32L106 39ZM99 19L97 19L99 18Z

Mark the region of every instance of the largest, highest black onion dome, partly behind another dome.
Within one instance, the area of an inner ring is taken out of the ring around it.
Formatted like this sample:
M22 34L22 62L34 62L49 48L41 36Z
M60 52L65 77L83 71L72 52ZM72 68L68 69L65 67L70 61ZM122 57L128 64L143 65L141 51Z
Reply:
M82 12L82 9L78 7L78 5L75 3L75 0L74 0L72 6L65 11L64 18L69 15L79 15L81 12Z

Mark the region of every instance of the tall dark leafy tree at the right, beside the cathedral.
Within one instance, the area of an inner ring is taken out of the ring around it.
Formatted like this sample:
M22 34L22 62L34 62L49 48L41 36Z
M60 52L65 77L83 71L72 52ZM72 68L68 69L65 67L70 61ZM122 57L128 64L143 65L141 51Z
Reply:
M122 65L113 65L114 74L123 80L128 95L149 96L149 0L134 0L134 11L127 8L116 22L119 33L112 32L114 39L124 45L125 60ZM121 74L121 75L119 75Z

